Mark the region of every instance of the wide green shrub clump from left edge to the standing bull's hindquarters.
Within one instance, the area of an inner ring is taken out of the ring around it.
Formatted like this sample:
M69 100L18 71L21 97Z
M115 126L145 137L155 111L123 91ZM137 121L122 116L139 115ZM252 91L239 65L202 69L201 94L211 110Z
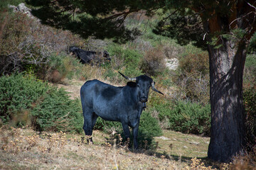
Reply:
M27 123L40 131L82 131L82 109L78 100L71 100L63 89L23 74L0 78L0 118L3 123Z

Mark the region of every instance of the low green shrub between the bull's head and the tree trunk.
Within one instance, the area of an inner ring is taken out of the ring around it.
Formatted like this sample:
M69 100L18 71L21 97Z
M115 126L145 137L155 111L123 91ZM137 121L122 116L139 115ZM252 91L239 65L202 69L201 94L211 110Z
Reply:
M159 120L169 120L169 128L178 132L210 134L210 105L176 101L154 106L159 112Z

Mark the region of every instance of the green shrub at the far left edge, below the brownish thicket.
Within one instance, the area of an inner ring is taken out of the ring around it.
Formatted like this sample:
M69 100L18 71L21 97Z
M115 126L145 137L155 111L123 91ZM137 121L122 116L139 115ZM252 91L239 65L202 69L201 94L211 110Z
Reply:
M46 83L23 74L0 77L0 118L4 123L14 118L22 109L31 108L40 96L46 94Z

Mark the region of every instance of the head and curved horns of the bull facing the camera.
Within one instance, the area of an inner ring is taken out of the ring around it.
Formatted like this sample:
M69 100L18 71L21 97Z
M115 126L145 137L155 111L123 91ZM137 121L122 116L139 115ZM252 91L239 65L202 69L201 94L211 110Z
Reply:
M120 72L119 74L121 74L122 77L124 77L125 79L128 79L130 81L136 81L136 86L139 89L139 93L138 93L139 101L141 101L142 103L146 103L149 96L150 87L153 91L156 91L157 93L162 94L161 91L156 90L156 88L154 87L155 82L153 81L153 79L151 79L150 77L147 77L146 75L129 78L127 76L124 76L124 74Z

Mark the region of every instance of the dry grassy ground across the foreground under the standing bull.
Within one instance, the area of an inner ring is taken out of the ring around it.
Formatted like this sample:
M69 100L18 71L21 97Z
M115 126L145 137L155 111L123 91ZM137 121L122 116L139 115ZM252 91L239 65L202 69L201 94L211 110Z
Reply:
M164 130L155 150L133 152L125 145L110 145L107 138L111 136L95 130L95 143L88 145L84 135L2 127L0 169L193 169L201 163L191 159L201 157L204 162L209 142Z

